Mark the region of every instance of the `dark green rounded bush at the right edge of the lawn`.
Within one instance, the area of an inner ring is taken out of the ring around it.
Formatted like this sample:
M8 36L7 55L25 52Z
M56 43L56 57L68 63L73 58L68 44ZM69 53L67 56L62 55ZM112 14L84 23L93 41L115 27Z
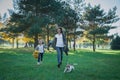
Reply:
M120 37L113 39L110 45L112 50L120 50Z

